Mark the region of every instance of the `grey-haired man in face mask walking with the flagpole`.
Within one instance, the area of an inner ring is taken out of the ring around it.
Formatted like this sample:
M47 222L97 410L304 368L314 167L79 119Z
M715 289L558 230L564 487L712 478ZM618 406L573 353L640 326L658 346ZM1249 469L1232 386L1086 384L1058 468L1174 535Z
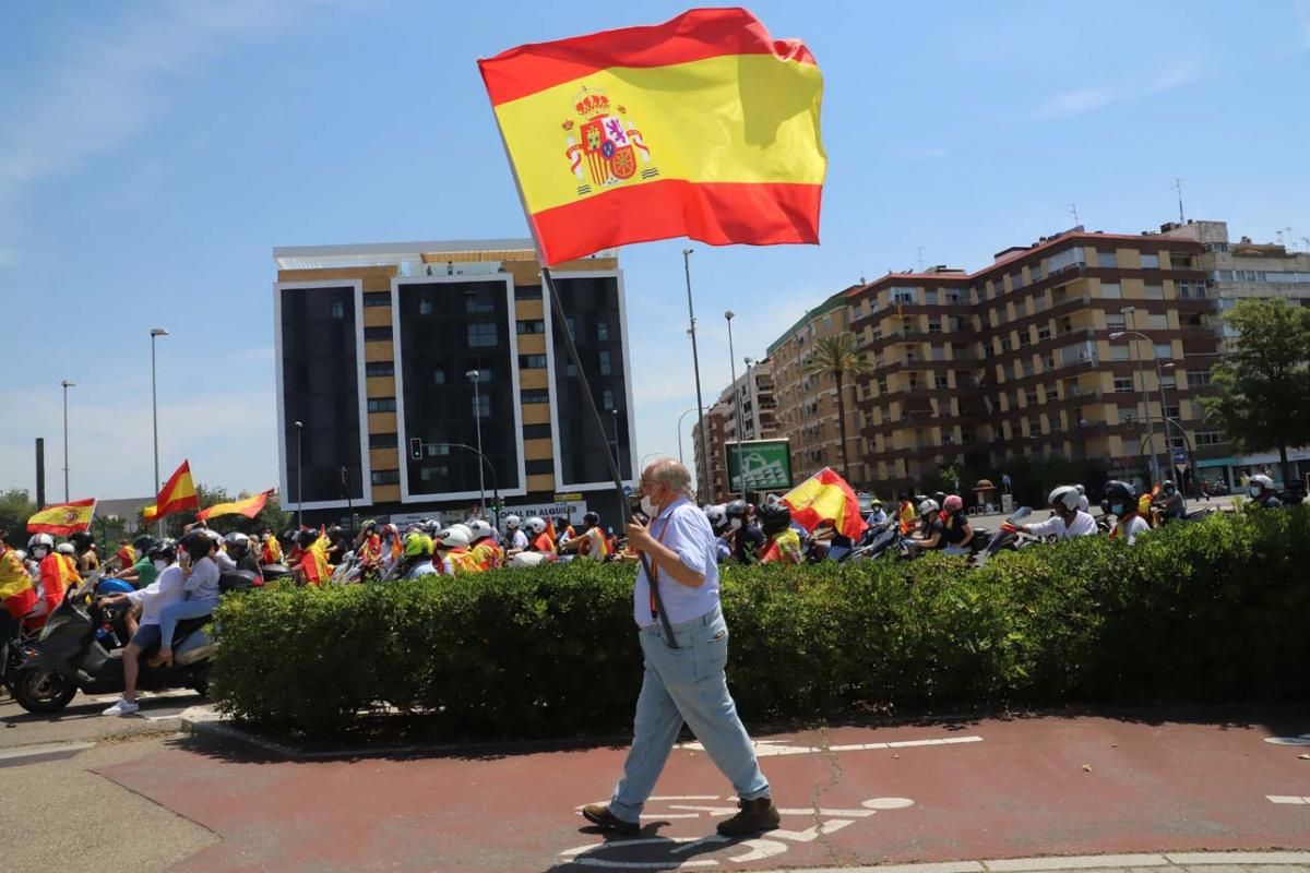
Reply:
M692 476L681 463L660 459L642 472L642 512L650 527L627 525L629 546L645 554L637 573L633 618L646 661L637 699L633 747L609 804L591 804L583 817L601 828L634 836L642 806L655 788L683 721L692 726L710 759L728 777L740 800L732 818L720 822L723 836L751 836L778 826L769 781L736 713L723 669L728 628L719 611L719 572L714 531L688 495ZM651 585L658 586L656 601ZM664 631L667 611L673 644Z

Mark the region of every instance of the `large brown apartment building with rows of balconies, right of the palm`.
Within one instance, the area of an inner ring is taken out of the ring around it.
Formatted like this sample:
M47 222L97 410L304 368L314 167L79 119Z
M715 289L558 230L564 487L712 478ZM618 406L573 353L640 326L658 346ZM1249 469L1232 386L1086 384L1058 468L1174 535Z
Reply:
M1150 454L1148 416L1165 465L1166 442L1227 455L1203 420L1207 386L1183 376L1208 372L1218 346L1203 254L1193 240L1079 226L973 274L889 274L849 291L872 364L859 407L875 490L916 487L945 463L997 475L1026 455L1131 476Z

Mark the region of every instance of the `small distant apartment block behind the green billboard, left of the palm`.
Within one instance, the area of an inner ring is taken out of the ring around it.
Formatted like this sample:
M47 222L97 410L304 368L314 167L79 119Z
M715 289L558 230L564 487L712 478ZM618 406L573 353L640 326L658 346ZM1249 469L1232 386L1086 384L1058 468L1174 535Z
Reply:
M747 372L738 376L732 385L723 389L714 404L705 412L705 429L709 432L709 458L711 497L702 503L723 503L731 500L727 476L727 446L738 441L738 403L741 406L741 440L773 440L782 436L778 432L774 366L770 359L756 361ZM696 446L696 461L701 454L701 425L692 427L692 441Z

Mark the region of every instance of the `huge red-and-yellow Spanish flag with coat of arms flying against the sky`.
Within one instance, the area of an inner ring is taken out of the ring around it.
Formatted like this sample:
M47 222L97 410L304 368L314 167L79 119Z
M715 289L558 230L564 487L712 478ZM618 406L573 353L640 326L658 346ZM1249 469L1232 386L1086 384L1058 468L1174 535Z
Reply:
M823 77L745 9L479 60L546 264L668 237L819 242Z

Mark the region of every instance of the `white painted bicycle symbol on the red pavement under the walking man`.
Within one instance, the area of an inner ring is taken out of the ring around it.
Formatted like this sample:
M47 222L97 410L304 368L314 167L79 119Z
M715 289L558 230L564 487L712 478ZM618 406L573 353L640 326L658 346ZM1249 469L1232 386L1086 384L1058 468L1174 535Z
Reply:
M647 811L643 818L664 821L673 818L726 818L738 811L736 798L718 796L673 796L651 797L654 804L664 804L668 811ZM719 801L719 802L714 802ZM604 802L604 801L601 801ZM863 801L858 808L781 808L783 825L787 819L804 818L815 825L804 830L778 828L768 831L757 839L732 840L727 836L711 834L701 838L679 836L647 836L637 839L614 839L604 843L588 843L576 848L565 849L559 853L563 863L572 863L582 866L609 868L622 870L675 870L675 869L703 869L722 866L724 863L747 864L782 855L790 844L812 843L820 836L834 834L861 819L870 818L879 811L905 809L913 806L914 801L908 797L872 797ZM578 808L582 809L580 806ZM732 849L747 849L730 855L722 861L713 857L698 857L731 847Z

